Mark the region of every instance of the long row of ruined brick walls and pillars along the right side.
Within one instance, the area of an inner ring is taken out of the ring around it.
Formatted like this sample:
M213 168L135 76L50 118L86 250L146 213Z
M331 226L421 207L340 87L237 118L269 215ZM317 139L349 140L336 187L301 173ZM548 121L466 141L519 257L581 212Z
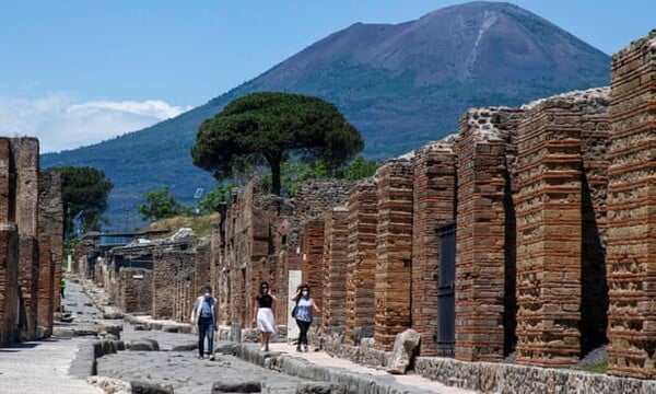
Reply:
M153 252L151 313L185 321L210 283L237 333L267 280L285 324L300 270L314 339L359 362L412 328L420 358L567 368L608 344L610 374L655 379L656 32L611 68L610 88L469 109L370 179L251 182L211 239Z

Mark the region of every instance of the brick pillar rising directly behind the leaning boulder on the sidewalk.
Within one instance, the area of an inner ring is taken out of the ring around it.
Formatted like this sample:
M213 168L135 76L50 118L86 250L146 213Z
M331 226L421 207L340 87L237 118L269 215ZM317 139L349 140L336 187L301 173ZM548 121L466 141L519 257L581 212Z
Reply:
M389 351L410 327L412 275L412 164L391 160L376 171L376 348Z

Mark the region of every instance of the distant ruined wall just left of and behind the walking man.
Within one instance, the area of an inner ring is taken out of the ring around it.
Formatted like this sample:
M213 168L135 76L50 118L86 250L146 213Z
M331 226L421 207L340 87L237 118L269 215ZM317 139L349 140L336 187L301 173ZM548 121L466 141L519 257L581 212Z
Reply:
M189 276L196 266L196 254L186 251L162 251L153 254L153 302L154 318L173 318L175 283Z

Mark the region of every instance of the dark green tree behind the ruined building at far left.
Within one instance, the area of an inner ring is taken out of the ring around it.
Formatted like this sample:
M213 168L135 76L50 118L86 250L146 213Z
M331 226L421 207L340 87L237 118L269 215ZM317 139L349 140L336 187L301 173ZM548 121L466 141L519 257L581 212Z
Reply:
M50 169L61 174L61 199L66 210L66 237L75 236L75 221L80 230L99 231L108 221L103 216L107 209L107 197L114 185L105 177L105 173L87 166L65 166Z

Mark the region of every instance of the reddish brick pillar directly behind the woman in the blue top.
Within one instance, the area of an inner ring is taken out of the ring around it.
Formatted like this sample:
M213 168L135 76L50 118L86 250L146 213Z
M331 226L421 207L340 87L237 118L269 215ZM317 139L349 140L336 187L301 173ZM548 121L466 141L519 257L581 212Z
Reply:
M312 289L312 298L324 316L324 220L309 220L303 227L301 270L303 282Z

